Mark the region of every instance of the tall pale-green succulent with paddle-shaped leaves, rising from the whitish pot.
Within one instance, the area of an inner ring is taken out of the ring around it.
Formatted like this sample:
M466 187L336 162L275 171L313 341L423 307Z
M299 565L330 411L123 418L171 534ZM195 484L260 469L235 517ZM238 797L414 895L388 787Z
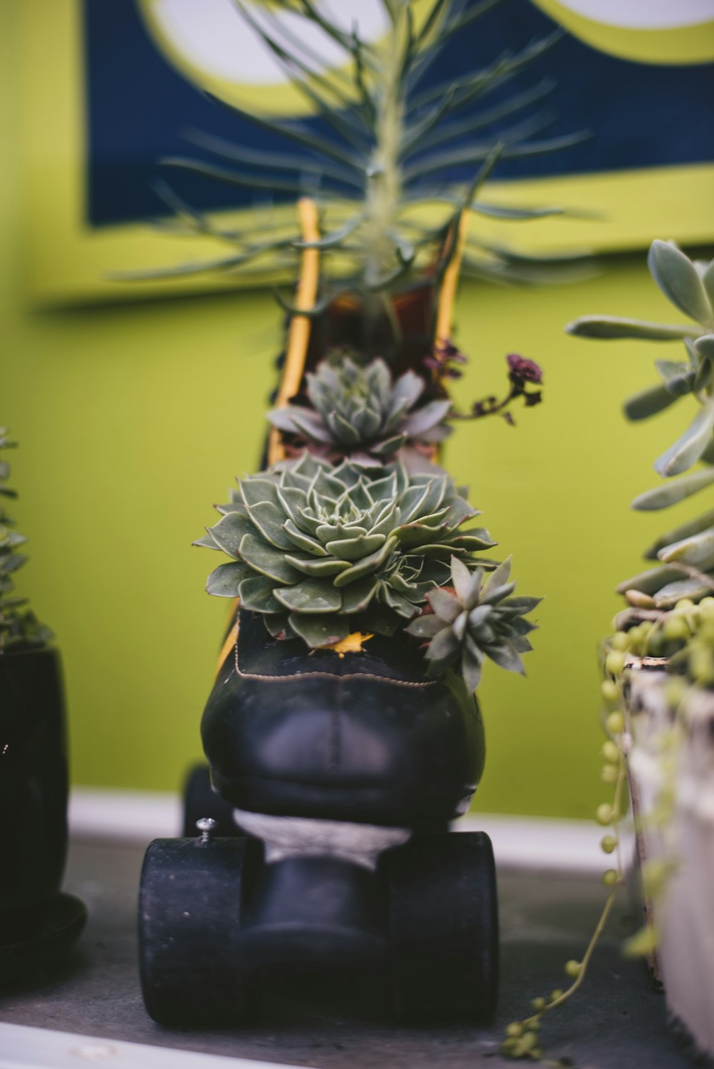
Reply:
M664 485L640 494L633 509L669 508L712 486L714 466L685 475L697 461L714 462L714 260L693 261L671 242L653 242L648 264L652 278L671 304L695 325L645 323L608 315L587 315L565 329L583 338L638 338L682 341L686 360L656 360L662 384L625 402L630 419L646 419L692 394L698 412L684 434L655 462ZM699 600L714 583L714 510L667 531L645 554L661 567L625 579L618 587L636 608L669 608L681 598Z

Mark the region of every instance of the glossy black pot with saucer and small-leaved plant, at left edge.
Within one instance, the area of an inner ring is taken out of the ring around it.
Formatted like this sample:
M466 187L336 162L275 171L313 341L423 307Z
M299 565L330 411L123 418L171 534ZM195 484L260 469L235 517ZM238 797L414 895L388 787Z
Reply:
M15 446L0 429L0 449ZM0 462L0 498L10 464ZM0 797L3 866L0 874L0 982L32 976L78 938L81 902L60 894L67 847L67 757L60 659L51 631L25 598L14 575L27 557L26 539L0 503Z

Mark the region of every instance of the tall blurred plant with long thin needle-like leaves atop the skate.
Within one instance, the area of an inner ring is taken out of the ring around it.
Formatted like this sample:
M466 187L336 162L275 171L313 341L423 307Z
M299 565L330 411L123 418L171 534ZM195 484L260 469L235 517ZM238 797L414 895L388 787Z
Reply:
M115 277L165 278L243 268L252 275L275 276L276 268L294 268L296 252L314 247L336 261L336 270L331 280L323 279L313 314L340 293L357 293L368 306L378 307L382 295L406 283L415 270L433 269L434 247L443 245L464 208L501 220L562 215L553 206L516 208L480 196L499 159L558 151L586 136L539 137L554 115L532 109L555 83L545 79L476 113L464 111L481 100L487 105L488 94L545 56L562 36L561 30L519 51L509 49L482 69L430 88L422 83L441 49L499 2L481 0L469 6L464 0L434 0L417 10L413 0L383 0L386 32L373 43L360 36L357 26L341 28L327 20L312 0L297 0L293 14L342 52L343 62L328 76L270 5L259 12L235 0L236 17L259 34L312 114L307 122L286 121L211 98L273 135L278 144L292 143L300 152L258 151L193 131L188 140L213 159L181 156L161 164L229 186L266 189L271 198L309 196L320 203L323 236L306 244L291 224L265 218L257 220L254 228L227 228L161 182L156 191L174 213L172 221L159 224L161 229L213 237L230 251L203 262ZM497 134L492 133L494 126ZM455 182L454 173L459 175ZM420 213L424 204L430 205L429 219L434 221L426 221ZM557 275L565 262L572 274L576 259L581 257L523 255L471 236L463 270L500 282L532 283Z

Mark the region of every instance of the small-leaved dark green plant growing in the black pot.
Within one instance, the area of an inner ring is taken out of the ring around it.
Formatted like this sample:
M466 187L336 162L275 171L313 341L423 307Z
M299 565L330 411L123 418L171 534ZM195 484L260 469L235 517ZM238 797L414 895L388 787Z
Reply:
M10 441L5 428L0 428L0 449L12 449L17 445ZM10 464L0 461L0 495L3 498L17 497L17 493L6 485ZM45 646L52 632L27 608L27 598L14 597L13 575L27 562L27 557L17 553L27 542L24 534L13 530L15 521L0 505L0 653L22 647Z

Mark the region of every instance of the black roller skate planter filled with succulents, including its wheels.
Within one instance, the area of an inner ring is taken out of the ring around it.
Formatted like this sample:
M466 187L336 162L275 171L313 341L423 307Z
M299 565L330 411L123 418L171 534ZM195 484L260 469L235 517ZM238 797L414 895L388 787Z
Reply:
M490 4L436 0L418 11L384 0L388 31L372 44L300 0L296 13L344 53L337 80L269 11L259 21L236 6L331 136L230 106L307 156L199 135L238 168L165 160L294 191L299 228L260 238L227 231L164 185L178 228L234 248L154 277L261 262L275 272L286 257L299 272L294 297L281 297L289 328L265 466L238 479L197 543L229 558L207 589L235 600L202 738L240 835L214 837L221 809L204 814L200 839L150 847L144 1001L164 1023L236 1022L267 977L320 972L330 987L348 977L353 994L386 981L403 1016L483 1020L497 994L493 854L480 833L443 833L483 766L482 666L523 671L539 599L514 593L510 558L485 555L496 543L474 524L478 511L440 467L438 446L452 420L510 417L521 398L537 404L542 376L511 355L505 398L460 413L448 384L465 357L451 317L462 268L499 280L536 270L469 237L471 214L557 212L484 201L498 159L577 136L530 141L536 118L496 140L472 138L540 89L496 113L463 109L559 34L423 89L434 56ZM470 176L445 187L454 168ZM320 175L319 197L306 174Z

